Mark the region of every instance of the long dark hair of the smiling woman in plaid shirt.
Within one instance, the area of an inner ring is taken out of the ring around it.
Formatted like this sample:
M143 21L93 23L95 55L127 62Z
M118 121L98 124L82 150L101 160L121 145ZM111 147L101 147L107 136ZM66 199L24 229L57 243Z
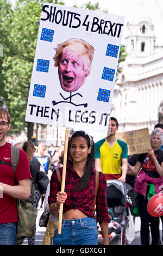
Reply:
M75 132L68 141L67 163L72 164L72 158L71 158L71 155L70 155L70 147L71 147L71 143L72 143L73 138L76 138L76 137L85 138L86 142L87 142L87 147L88 148L92 147L91 153L88 154L88 156L87 156L87 161L86 161L86 164L85 164L85 172L84 172L83 176L80 178L80 181L79 181L79 186L78 186L78 191L79 191L79 190L82 190L84 187L86 187L87 184L89 184L90 173L91 173L91 169L92 169L92 165L93 165L93 157L94 157L94 154L95 154L95 144L93 142L93 139L90 138L89 135L87 135L84 131Z

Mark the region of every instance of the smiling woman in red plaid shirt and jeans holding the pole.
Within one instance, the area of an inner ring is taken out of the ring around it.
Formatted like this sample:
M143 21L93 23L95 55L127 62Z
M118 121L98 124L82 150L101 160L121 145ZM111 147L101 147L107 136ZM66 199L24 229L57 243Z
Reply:
M95 145L84 131L75 132L68 142L65 192L60 192L57 174L51 177L48 198L51 214L55 214L60 203L64 203L62 229L54 233L53 245L97 245L97 227L93 201L95 198L96 171L92 167ZM62 176L62 168L59 168ZM108 240L108 207L106 202L106 179L99 173L96 198L98 222L104 237Z

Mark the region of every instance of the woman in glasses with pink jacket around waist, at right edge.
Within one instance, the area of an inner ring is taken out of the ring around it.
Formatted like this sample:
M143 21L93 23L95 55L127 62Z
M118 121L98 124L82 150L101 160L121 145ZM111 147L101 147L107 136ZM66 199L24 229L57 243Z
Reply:
M162 132L152 131L152 148L148 149L147 154L140 154L135 166L130 166L128 163L129 169L135 174L141 168L134 189L139 193L138 210L141 218L142 245L149 245L149 223L151 223L152 245L158 245L159 240L159 217L149 215L147 204L154 194L161 192L163 185L163 151L159 149L162 144Z

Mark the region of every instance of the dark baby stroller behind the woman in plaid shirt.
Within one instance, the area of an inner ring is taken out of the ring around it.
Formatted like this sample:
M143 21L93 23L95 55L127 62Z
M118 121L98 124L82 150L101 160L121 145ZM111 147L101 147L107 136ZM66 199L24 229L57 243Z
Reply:
M111 212L112 220L117 221L118 233L109 241L109 245L126 245L125 230L128 223L126 213L126 190L124 184L120 180L107 180L107 203L108 212ZM109 234L112 229L109 228ZM101 231L99 230L99 233ZM103 237L98 237L98 244L102 245Z

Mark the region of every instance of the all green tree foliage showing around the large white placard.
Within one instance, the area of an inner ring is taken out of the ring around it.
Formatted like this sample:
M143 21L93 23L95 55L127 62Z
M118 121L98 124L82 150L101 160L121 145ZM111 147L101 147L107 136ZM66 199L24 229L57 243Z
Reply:
M40 19L43 2L17 0L12 7L9 1L0 0L0 44L3 45L3 57L0 57L0 103L2 105L3 96L11 114L14 133L20 133L27 126L29 128L25 115L38 34L36 22ZM64 4L58 0L48 2ZM99 4L88 2L82 8L99 10ZM125 58L123 46L120 62Z

